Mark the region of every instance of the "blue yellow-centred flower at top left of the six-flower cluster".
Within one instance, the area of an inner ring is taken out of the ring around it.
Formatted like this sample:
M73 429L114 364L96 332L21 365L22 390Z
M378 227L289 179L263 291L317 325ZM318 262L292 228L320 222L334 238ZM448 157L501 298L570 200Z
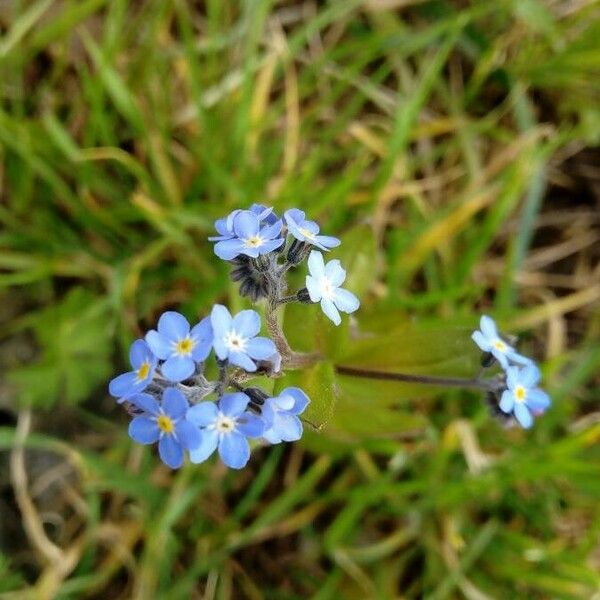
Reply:
M161 373L169 381L183 381L194 374L196 363L210 354L213 342L210 318L205 317L190 331L183 315L168 311L158 320L158 331L151 329L146 334L146 342L165 361Z

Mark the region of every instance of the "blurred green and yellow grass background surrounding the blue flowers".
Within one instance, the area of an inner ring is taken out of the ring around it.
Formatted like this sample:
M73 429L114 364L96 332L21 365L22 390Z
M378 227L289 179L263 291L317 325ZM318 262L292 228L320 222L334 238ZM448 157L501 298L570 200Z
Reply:
M600 598L597 0L13 0L0 27L2 598ZM346 382L343 440L168 471L107 381L163 310L243 306L206 238L252 202L343 239L385 366L407 323L448 354L486 311L551 411Z

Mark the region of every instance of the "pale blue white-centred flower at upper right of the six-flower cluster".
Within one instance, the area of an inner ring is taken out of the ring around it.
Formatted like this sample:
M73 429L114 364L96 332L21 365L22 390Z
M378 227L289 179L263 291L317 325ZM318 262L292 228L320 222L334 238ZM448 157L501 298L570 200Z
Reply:
M256 371L254 360L269 360L277 348L265 337L256 337L260 331L260 317L254 310L242 310L235 318L222 306L216 304L210 315L214 331L215 352L220 360Z

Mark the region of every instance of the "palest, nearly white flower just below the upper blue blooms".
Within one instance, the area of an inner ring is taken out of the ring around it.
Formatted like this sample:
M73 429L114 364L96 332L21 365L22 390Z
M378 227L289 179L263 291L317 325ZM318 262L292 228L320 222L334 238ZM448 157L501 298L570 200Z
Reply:
M345 313L354 312L359 306L358 298L340 286L346 279L346 271L341 267L339 260L330 260L327 264L323 255L313 250L308 257L308 270L306 287L313 302L321 302L323 312L336 324L341 323L341 310Z

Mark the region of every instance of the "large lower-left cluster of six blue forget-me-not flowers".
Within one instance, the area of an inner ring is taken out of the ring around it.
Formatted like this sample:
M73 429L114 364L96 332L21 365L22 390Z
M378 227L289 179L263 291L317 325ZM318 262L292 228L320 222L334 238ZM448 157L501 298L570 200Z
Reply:
M140 444L158 442L161 460L172 469L183 464L186 452L200 463L215 450L228 467L240 469L250 458L248 439L300 439L298 415L309 403L301 389L269 396L242 384L250 374L279 370L281 357L269 338L258 335L260 326L257 312L232 316L219 304L193 327L180 313L165 312L156 330L131 345L132 370L109 384L110 394L133 416L130 437ZM213 350L217 381L204 376Z

